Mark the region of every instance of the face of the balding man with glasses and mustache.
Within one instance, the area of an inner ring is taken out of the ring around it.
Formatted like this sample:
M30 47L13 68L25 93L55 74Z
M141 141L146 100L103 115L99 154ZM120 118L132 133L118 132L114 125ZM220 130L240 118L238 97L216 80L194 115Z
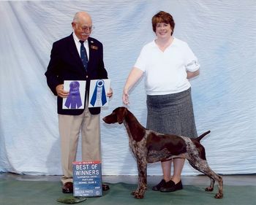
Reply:
M78 39L86 41L91 34L92 22L91 18L81 18L77 23L72 23L72 28Z

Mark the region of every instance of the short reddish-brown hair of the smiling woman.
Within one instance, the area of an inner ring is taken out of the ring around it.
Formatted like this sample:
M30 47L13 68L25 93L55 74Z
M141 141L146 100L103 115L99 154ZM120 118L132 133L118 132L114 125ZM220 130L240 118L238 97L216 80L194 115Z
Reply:
M170 28L172 28L172 30L174 30L174 27L175 27L175 22L173 20L173 16L170 15L169 13L163 12L163 11L158 12L152 18L152 27L153 27L154 32L156 32L157 23L170 24ZM173 31L172 31L171 35L173 35Z

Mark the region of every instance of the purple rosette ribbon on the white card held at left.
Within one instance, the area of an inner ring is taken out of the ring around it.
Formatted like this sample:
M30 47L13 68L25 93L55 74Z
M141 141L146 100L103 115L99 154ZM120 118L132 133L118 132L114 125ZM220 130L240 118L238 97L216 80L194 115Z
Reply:
M65 102L65 106L71 109L76 109L77 107L82 106L82 101L79 92L80 84L78 81L72 81L69 84L69 96L67 97L67 101Z

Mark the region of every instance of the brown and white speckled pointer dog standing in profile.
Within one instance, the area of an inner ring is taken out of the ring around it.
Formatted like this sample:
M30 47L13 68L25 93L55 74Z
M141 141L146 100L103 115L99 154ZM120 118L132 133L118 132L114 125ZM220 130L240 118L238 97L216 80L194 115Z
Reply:
M214 182L219 183L219 192L215 198L223 197L223 180L218 174L211 170L206 161L206 152L200 139L210 131L191 139L187 136L173 134L160 134L148 130L140 125L136 117L126 107L118 107L104 117L105 123L124 123L129 136L129 147L137 160L138 166L138 188L132 192L135 198L143 198L146 187L147 163L154 163L171 158L187 158L191 166L206 174L211 179L211 184L206 191L214 190Z

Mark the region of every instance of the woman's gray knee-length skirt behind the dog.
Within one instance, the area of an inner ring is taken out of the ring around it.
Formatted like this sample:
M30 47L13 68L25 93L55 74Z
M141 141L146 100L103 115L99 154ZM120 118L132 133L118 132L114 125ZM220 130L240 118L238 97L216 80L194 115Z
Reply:
M147 128L162 134L197 137L191 88L181 93L147 96Z

